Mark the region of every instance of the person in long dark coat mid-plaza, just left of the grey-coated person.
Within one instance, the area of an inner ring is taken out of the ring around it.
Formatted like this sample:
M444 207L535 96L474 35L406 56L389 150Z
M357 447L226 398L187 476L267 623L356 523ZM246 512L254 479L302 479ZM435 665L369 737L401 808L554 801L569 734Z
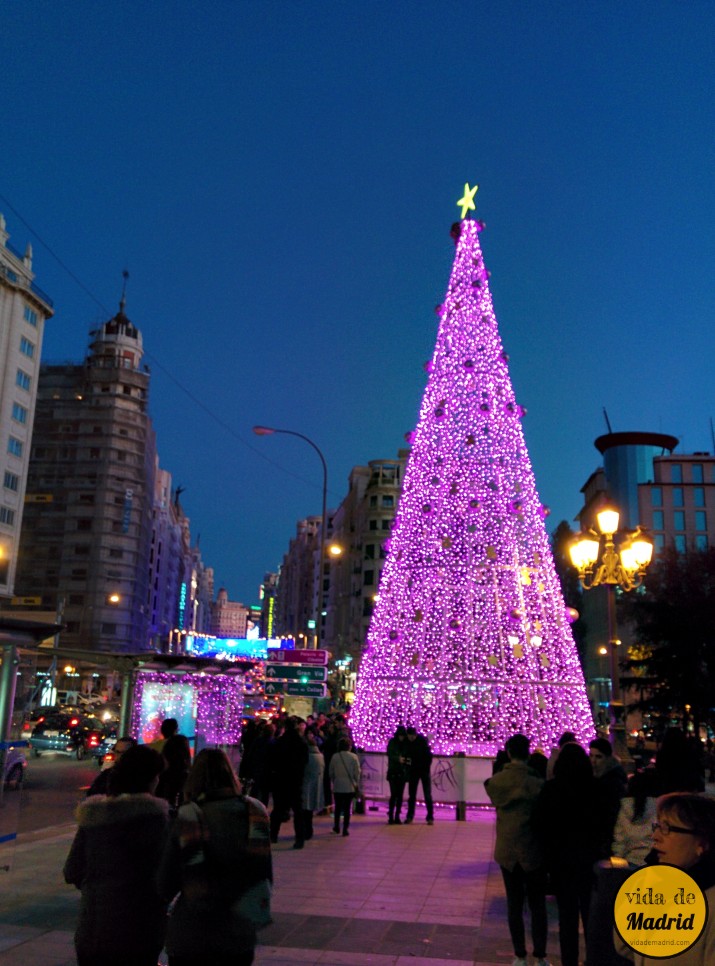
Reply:
M302 849L305 843L303 775L308 764L308 744L303 737L304 731L305 722L301 718L287 718L283 734L271 746L271 842L278 841L281 824L292 811L294 849Z

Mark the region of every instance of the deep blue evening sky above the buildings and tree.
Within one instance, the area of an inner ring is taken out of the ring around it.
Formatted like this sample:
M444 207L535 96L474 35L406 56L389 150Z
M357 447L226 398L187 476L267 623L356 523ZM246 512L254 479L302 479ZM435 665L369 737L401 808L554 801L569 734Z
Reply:
M110 314L129 269L217 586L255 601L320 512L315 454L255 423L318 443L331 505L404 445L465 181L550 529L603 406L712 449L714 31L697 0L0 6L0 194ZM43 357L80 359L107 312L7 202Z

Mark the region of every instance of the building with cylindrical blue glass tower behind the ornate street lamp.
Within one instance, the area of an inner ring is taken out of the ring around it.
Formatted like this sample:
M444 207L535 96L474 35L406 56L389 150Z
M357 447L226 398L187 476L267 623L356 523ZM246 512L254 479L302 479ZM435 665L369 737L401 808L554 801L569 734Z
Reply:
M608 502L619 511L621 528L640 524L652 533L654 562L665 547L684 553L715 546L715 456L675 453L677 438L663 433L607 433L594 445L603 464L581 489L582 529L595 526L596 513ZM592 706L602 714L611 688L608 648L617 647L620 658L632 643L623 624L617 628L620 643L609 642L608 592L606 587L584 592L582 606L584 674Z

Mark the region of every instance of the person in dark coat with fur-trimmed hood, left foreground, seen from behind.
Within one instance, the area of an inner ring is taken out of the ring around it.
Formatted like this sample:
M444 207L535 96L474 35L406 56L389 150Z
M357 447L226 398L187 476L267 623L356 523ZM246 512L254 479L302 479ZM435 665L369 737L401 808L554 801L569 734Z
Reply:
M77 808L64 877L82 892L78 966L156 966L167 904L155 879L169 806L153 791L163 767L152 748L129 748L111 769L109 795Z

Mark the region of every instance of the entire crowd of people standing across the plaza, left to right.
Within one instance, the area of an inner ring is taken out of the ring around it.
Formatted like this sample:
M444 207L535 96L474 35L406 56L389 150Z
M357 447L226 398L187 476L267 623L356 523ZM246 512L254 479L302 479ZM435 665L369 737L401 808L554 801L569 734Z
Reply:
M527 962L527 906L536 966L548 966L548 895L562 966L578 966L581 926L587 947L600 936L589 963L650 961L617 938L614 945L609 923L594 921L599 862L613 856L629 870L659 862L686 869L715 901L715 799L703 794L708 763L696 747L670 729L654 760L628 778L604 738L587 750L566 732L549 757L522 734L507 741L485 787L497 813L494 858L513 966ZM267 921L271 843L281 826L292 818L295 849L313 837L315 814L332 814L333 832L348 836L360 795L360 762L341 714L249 722L238 776L218 749L192 762L173 719L152 745L120 738L114 760L79 806L64 869L82 892L78 966L155 966L163 947L170 966L249 966ZM431 763L427 739L398 727L387 745L388 824L414 820L420 786L433 824ZM715 920L681 961L715 962Z

